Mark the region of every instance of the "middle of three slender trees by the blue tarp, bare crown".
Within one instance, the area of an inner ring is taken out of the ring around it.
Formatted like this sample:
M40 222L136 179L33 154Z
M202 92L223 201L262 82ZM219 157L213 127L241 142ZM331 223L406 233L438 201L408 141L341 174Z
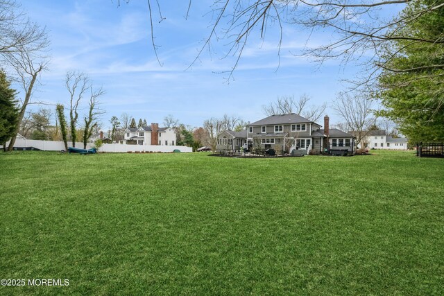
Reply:
M78 105L91 87L91 82L85 73L69 71L65 79L65 86L69 92L69 127L71 130L72 146L76 147L78 121Z

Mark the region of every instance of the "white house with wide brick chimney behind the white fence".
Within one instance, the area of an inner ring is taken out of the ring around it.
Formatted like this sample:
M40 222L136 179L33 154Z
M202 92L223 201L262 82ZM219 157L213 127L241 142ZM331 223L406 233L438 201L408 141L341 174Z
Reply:
M122 143L137 145L175 146L176 132L172 128L159 128L157 123L140 128L127 128Z

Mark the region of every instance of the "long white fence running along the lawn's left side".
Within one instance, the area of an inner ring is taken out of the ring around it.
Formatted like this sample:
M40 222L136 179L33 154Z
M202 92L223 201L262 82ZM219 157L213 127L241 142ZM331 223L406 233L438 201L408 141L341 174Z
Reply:
M8 146L9 142L6 143ZM72 143L68 142L68 147L71 147ZM87 143L86 148L92 148L93 143ZM34 147L44 151L60 151L65 150L65 144L62 141L40 141L40 140L28 140L28 139L16 139L14 148ZM83 148L83 143L76 142L76 148ZM128 145L128 144L103 144L99 149L99 152L110 153L127 153L127 152L163 152L169 153L173 150L180 150L180 152L193 152L193 148L185 146L156 146L156 145Z

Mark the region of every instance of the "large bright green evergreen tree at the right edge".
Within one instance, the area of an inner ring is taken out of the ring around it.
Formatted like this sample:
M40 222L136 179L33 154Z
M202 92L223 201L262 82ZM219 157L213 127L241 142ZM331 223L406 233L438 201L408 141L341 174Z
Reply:
M438 1L442 3L443 1ZM444 7L427 14L418 11L436 6L436 1L411 1L402 11L414 21L400 24L392 35L418 40L443 40ZM444 45L442 42L412 42L400 38L386 48L380 62L382 105L379 115L398 123L413 143L444 139Z

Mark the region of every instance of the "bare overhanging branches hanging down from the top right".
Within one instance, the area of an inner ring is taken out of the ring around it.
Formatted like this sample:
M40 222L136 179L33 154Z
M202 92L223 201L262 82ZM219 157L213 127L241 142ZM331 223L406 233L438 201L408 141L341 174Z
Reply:
M191 10L191 0L185 3L185 18ZM411 22L443 8L444 3L436 1L436 5L423 6L410 15L398 15L398 11L407 5L416 5L416 1L411 0L357 0L357 1L337 1L337 0L264 0L264 1L241 1L241 0L215 0L210 1L209 10L212 12L213 20L210 24L210 33L205 38L194 62L200 60L200 55L207 50L213 51L213 42L224 40L225 44L230 44L226 56L235 57L234 65L228 72L230 78L234 69L237 68L250 36L257 33L261 38L266 37L266 33L278 36L277 54L280 56L284 35L284 26L290 25L295 28L307 28L307 35L302 39L309 40L316 30L329 30L332 32L331 41L325 42L318 47L306 46L303 55L310 55L318 62L328 59L342 59L343 62L350 60L364 60L368 65L376 66L367 73L366 83L375 81L379 75L379 69L384 69L387 60L379 62L380 52L384 46L390 46L393 40L406 40L407 46L415 46L418 42L429 44L441 44L444 41L429 39L427 37L411 37L403 30ZM381 8L386 8L386 12L393 11L392 15L383 17ZM165 17L162 15L158 0L148 0L148 15L151 24L151 43L157 57L159 46L155 44L154 24L159 24ZM302 32L300 32L302 35ZM298 39L301 36L297 35ZM292 35L294 36L294 35ZM390 60L391 57L388 57ZM158 58L157 58L158 60ZM194 62L192 64L194 64ZM161 62L159 62L161 64ZM192 65L191 64L191 65ZM191 66L190 66L191 67ZM371 66L370 66L371 67ZM429 66L427 66L429 67ZM436 63L430 67L443 68L442 64ZM396 69L393 69L394 71Z

